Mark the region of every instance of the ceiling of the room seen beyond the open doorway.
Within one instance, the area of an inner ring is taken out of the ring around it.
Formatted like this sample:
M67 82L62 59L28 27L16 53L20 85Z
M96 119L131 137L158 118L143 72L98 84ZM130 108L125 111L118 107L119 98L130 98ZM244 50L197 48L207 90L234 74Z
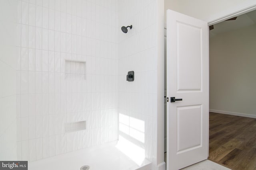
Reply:
M236 20L222 21L214 24L214 29L209 31L209 37L211 38L220 33L233 31L254 24L256 24L256 10L240 15Z

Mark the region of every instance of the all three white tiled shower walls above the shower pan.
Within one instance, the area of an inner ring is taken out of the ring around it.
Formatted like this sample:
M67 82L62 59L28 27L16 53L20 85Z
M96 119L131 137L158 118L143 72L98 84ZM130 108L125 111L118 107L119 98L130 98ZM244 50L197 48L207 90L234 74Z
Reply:
M125 138L155 169L157 0L0 2L0 159L31 162Z

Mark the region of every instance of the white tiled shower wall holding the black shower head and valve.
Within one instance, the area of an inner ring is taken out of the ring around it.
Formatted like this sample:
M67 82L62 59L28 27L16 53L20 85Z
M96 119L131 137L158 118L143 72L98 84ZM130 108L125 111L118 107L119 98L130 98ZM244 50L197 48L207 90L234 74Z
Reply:
M119 135L145 150L152 170L157 164L156 12L157 0L118 1L119 29L132 25L126 34L118 30ZM128 71L134 71L134 82L126 81Z

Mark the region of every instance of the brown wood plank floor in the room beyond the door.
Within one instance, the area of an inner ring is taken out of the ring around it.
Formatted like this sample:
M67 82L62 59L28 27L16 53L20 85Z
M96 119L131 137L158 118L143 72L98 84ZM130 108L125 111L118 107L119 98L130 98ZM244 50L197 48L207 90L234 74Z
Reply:
M256 119L210 112L209 160L256 170Z

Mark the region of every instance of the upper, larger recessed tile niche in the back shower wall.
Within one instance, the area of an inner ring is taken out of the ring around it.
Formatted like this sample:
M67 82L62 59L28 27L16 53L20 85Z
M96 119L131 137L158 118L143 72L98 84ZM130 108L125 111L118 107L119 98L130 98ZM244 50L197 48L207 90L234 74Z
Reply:
M86 62L66 60L65 61L66 79L85 80L86 79Z

